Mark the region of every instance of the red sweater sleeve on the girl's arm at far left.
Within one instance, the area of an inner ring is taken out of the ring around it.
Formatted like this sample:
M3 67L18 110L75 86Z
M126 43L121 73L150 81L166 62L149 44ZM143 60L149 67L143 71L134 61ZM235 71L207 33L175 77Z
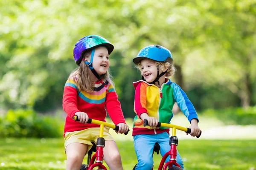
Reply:
M76 112L80 112L77 108L77 90L67 85L67 83L64 88L62 107L71 119L73 119Z

